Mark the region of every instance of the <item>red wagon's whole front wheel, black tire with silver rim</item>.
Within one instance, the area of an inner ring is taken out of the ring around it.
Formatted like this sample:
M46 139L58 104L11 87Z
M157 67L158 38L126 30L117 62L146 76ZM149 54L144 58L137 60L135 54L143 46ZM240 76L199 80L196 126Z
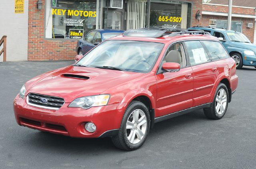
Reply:
M136 150L145 142L149 129L148 108L142 102L132 101L126 108L118 135L112 137L112 142L120 149Z

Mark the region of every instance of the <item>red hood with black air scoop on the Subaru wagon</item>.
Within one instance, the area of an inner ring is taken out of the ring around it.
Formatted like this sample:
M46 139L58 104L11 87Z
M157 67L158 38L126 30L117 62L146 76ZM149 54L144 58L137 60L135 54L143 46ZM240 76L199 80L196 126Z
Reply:
M69 103L82 96L110 94L104 91L142 75L144 73L69 66L31 79L26 83L25 95L33 92L58 96Z

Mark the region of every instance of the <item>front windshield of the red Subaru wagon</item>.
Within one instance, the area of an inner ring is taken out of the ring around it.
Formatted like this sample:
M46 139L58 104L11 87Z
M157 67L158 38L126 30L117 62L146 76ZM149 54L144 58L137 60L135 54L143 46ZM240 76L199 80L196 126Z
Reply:
M163 47L163 43L108 40L86 54L75 66L148 73Z

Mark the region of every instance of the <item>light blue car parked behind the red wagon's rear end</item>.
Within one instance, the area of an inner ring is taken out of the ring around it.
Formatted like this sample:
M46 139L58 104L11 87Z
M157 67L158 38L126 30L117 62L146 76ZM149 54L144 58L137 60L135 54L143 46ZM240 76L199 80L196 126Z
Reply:
M230 57L236 61L236 69L241 69L243 65L256 68L256 45L251 43L244 34L224 28L206 26L194 26L189 29L204 30L218 37Z

